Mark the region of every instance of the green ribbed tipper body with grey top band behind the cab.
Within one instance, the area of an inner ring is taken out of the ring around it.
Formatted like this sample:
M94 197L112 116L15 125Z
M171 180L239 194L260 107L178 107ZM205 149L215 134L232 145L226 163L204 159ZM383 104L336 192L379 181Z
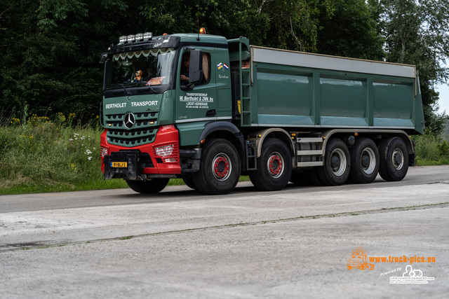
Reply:
M229 46L231 61L243 62L242 127L424 132L415 66L248 46L244 39Z

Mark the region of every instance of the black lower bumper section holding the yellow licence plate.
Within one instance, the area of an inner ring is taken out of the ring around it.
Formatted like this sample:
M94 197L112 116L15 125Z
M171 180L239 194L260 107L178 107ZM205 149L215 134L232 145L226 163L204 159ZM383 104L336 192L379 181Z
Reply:
M138 161L140 151L119 151L105 155L105 179L140 179L142 169Z

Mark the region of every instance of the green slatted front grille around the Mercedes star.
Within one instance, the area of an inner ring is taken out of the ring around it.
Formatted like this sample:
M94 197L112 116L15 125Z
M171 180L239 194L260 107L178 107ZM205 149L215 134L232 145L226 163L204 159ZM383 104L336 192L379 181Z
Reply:
M156 139L158 131L158 114L156 112L134 113L135 125L128 130L123 125L125 114L110 114L105 116L107 141L117 146L141 146L151 144Z

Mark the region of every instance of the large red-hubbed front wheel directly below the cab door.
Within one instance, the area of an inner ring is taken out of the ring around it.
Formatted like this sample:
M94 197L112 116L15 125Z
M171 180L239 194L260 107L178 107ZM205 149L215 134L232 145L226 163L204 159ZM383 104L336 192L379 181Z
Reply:
M210 139L203 148L198 172L192 180L201 193L227 194L239 182L240 156L235 146L225 139Z

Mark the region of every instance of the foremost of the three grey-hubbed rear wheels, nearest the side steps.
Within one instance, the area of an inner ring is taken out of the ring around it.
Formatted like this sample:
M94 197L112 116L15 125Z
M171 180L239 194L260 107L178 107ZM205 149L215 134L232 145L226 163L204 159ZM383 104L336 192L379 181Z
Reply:
M342 139L331 139L326 145L323 166L317 167L320 181L325 186L340 186L349 177L351 157Z

